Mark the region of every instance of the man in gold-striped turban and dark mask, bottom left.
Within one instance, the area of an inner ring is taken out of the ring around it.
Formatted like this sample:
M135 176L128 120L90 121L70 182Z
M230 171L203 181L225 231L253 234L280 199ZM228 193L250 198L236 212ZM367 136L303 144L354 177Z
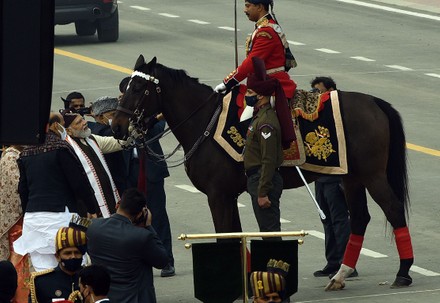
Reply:
M84 219L82 220L84 222ZM58 266L32 273L29 302L50 303L55 300L67 300L72 293L79 291L78 272L82 269L86 244L84 230L74 227L62 227L58 230L55 238Z

